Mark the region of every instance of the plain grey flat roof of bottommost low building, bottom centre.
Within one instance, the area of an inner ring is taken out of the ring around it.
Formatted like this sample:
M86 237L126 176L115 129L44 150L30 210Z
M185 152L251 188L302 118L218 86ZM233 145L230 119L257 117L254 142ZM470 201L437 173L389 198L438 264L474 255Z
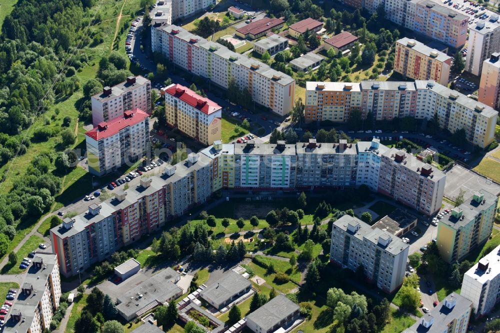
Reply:
M246 318L255 322L265 332L297 310L299 310L297 304L279 294L248 314Z

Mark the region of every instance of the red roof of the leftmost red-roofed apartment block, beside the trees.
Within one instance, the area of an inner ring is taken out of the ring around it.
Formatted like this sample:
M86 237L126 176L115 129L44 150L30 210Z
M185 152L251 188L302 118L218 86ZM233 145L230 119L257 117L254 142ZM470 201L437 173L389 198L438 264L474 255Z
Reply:
M101 140L118 133L120 130L127 126L135 125L136 123L141 122L148 116L149 114L142 111L140 108L126 110L125 112L123 112L123 116L119 118L115 118L107 122L99 122L97 127L90 129L85 133L85 135L90 136L94 140Z

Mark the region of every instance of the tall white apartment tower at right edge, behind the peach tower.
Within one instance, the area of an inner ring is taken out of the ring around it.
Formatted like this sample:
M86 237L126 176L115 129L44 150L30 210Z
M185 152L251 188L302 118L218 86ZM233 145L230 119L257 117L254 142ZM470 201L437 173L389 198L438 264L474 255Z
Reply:
M500 22L498 14L472 24L469 29L465 70L480 76L482 63L491 53L500 51Z

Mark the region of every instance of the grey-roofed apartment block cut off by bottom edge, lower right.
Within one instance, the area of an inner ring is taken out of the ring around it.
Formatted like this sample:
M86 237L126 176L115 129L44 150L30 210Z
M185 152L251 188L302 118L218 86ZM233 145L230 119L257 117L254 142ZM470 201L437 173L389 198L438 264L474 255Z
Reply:
M465 333L471 312L472 302L453 292L403 333Z

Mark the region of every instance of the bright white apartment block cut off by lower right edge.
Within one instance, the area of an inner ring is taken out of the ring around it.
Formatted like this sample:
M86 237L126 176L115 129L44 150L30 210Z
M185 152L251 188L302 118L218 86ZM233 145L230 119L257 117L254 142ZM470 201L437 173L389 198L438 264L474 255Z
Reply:
M460 295L472 301L476 316L487 315L500 301L500 245L463 274Z

